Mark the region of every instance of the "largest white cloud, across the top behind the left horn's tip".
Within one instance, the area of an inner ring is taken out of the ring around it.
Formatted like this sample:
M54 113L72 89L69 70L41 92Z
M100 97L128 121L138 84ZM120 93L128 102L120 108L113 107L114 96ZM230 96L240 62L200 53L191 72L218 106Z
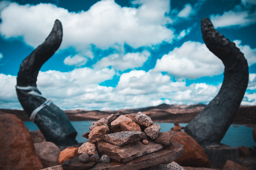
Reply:
M165 27L170 19L164 15L169 1L136 2L142 4L138 9L121 7L114 0L99 1L88 11L78 13L52 4L11 3L1 12L0 32L5 38L23 37L26 44L37 47L49 34L55 19L59 19L63 26L61 49L74 47L84 53L91 44L108 49L125 43L138 48L172 42L173 31Z

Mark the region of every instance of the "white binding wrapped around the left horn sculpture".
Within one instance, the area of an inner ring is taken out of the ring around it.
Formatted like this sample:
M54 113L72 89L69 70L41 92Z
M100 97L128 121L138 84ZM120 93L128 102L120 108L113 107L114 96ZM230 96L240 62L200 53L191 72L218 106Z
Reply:
M45 98L45 97L43 97L40 93L34 91L34 90L38 90L35 86L26 86L26 87L24 87L24 86L15 86L15 87L16 87L17 89L19 89L19 90L31 90L31 91L29 91L29 92L27 93L28 95L38 96L38 97ZM45 99L46 99L46 98L45 98ZM37 114L42 108L44 108L46 105L47 105L47 106L50 106L51 103L52 103L52 101L46 99L46 101L45 101L43 104L41 104L39 107L37 107L35 110L33 110L33 112L32 112L31 115L30 115L30 120L33 121L33 123L35 123L34 120L35 120L36 114Z

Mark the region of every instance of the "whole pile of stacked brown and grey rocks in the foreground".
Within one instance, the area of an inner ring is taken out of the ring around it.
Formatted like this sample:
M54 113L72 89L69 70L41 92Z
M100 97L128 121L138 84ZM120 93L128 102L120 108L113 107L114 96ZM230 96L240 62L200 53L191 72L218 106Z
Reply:
M123 165L141 169L171 163L184 153L183 145L173 145L170 133L159 133L160 125L142 112L135 117L120 115L120 112L111 114L93 122L89 129L90 132L83 135L88 141L80 148L69 147L60 153L59 163L64 170L97 169L96 166L119 169Z

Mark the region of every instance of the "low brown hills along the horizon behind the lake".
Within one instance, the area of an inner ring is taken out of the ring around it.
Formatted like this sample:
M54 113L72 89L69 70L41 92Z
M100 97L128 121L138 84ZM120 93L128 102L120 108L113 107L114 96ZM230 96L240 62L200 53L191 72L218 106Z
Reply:
M142 112L151 117L154 122L179 122L188 123L192 120L206 105L168 105L160 104L159 106L152 106L138 109L123 109L117 111L85 111L85 110L65 110L70 121L87 121L99 120L106 118L110 114L115 114L121 111L121 114L129 114L135 116L137 112ZM23 110L0 109L1 112L15 114L22 121L30 121L29 116ZM247 126L254 126L256 124L256 106L240 106L233 124L241 124Z

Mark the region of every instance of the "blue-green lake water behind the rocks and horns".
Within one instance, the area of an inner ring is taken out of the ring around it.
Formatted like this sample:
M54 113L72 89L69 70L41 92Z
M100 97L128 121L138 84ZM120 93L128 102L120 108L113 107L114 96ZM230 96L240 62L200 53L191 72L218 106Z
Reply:
M85 132L90 131L89 127L91 126L92 122L94 121L73 121L71 124L77 131L76 140L78 142L86 142L88 139L83 138L82 135ZM28 127L29 130L34 131L37 130L38 127L33 122L24 122L25 125ZM161 126L160 132L167 132L170 128L174 127L173 123L158 123ZM187 123L180 123L180 126L185 127ZM226 135L221 140L221 143L231 146L231 147L238 147L238 146L246 146L252 148L256 146L255 141L252 137L252 127L247 127L243 125L231 125L226 133Z

